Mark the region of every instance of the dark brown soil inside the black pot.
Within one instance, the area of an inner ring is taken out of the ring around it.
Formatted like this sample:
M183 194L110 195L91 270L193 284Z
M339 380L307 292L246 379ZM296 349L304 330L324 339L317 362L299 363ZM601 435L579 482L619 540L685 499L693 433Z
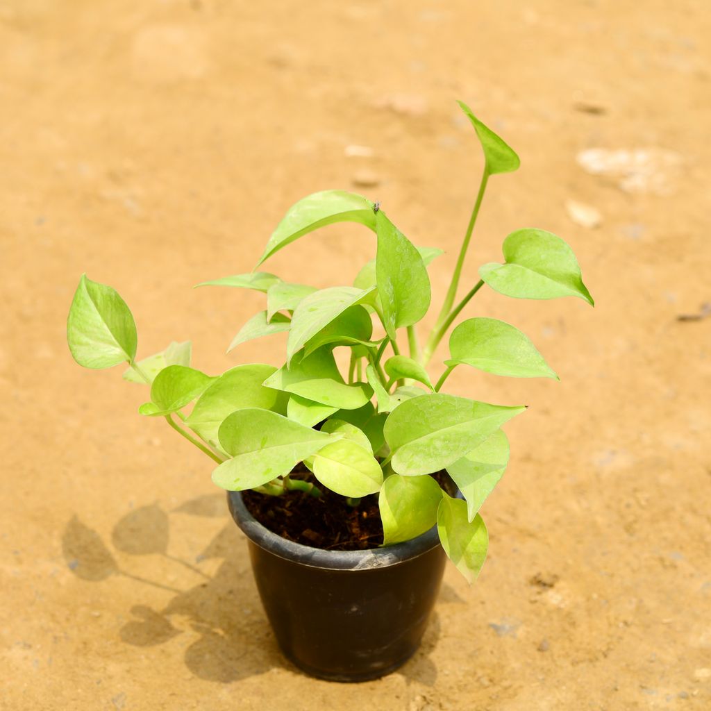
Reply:
M449 491L449 476L433 474ZM383 545L378 494L348 506L346 497L320 486L305 468L295 470L292 479L314 481L321 496L304 491L289 491L283 496L268 496L257 491L242 491L247 510L270 531L296 543L324 550L365 550Z

